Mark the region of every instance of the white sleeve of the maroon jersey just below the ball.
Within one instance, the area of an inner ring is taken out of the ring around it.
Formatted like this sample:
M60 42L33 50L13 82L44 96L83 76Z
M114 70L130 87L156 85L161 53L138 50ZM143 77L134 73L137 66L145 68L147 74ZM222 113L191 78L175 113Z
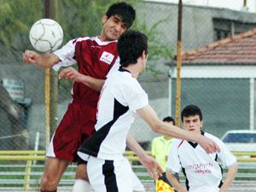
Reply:
M56 65L53 66L53 69L55 71L58 71L60 67L69 67L73 64L77 63L73 59L74 52L75 52L75 40L70 40L67 44L65 44L61 49L55 50L53 52L54 55L58 56L60 58L60 62L58 62Z

